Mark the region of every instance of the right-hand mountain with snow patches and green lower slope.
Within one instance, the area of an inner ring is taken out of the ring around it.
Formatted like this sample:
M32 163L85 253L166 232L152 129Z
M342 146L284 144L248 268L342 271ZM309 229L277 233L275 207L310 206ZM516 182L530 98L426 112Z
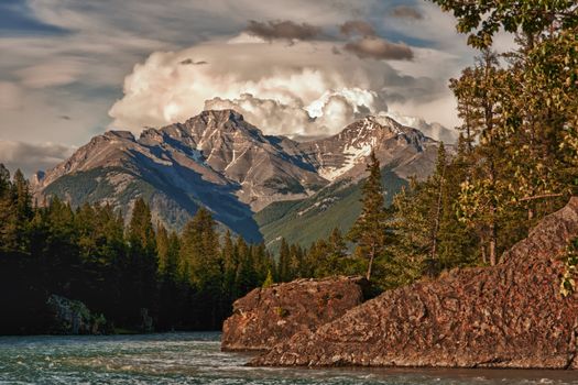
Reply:
M346 232L361 211L361 185L372 148L382 165L382 185L390 204L410 176L422 179L432 173L437 147L438 143L421 131L385 117L368 117L337 135L302 143L301 148L330 184L308 198L272 204L255 213L255 221L272 250L282 238L308 246L328 237L334 228Z

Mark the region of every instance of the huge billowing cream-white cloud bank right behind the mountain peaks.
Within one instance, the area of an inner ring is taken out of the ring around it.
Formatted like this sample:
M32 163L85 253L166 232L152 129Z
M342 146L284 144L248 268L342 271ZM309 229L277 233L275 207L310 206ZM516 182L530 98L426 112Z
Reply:
M109 111L111 127L139 133L204 109L232 108L266 134L329 135L364 114L388 111L390 102L419 106L446 89L443 81L404 75L388 62L336 59L331 42L233 41L156 52L138 64ZM181 65L189 57L211 64Z

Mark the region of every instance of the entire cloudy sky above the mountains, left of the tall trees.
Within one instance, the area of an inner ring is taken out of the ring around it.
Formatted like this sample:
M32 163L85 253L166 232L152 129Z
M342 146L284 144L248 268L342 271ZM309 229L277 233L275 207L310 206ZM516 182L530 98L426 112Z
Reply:
M424 0L0 0L0 163L28 175L209 108L296 140L369 113L448 140L476 54Z

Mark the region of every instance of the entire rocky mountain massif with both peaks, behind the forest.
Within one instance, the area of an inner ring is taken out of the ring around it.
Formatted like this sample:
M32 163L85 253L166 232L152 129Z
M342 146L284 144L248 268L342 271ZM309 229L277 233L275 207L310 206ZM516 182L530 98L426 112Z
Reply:
M264 135L233 110L209 110L184 123L146 129L139 138L126 131L95 136L67 161L39 173L33 189L39 201L58 196L73 206L110 204L126 216L143 197L153 219L176 230L206 207L250 241L264 235L268 242L287 237L305 243L325 233L321 228L346 229L357 217L371 148L393 195L407 176L432 172L437 143L382 117L299 143ZM296 237L307 224L319 230Z

